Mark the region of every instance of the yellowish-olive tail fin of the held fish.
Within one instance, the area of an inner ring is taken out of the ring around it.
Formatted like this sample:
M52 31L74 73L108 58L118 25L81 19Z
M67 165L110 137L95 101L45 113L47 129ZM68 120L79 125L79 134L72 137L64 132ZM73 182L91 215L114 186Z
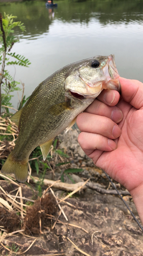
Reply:
M1 172L3 174L14 174L17 181L25 182L28 176L28 160L15 160L12 153L8 156Z

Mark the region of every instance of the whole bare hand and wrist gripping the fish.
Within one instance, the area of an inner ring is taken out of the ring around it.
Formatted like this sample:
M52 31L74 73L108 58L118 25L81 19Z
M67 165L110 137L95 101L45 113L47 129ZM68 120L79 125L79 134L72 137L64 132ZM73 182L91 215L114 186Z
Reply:
M126 187L143 224L143 83L120 77L76 118L78 142L97 167ZM90 124L90 125L89 125Z

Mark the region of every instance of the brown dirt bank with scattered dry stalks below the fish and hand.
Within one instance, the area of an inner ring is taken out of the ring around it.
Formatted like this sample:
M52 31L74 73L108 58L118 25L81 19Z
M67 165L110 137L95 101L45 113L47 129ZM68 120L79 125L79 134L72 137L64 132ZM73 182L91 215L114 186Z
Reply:
M60 139L63 141L60 147L68 147L68 154L71 153L74 157L72 167L84 169L79 175L72 175L75 182L90 178L90 182L112 189L105 174L80 149L76 131L60 135ZM45 178L51 179L51 172L47 172ZM60 173L55 173L54 180L59 178ZM65 177L65 182L71 183L71 180ZM0 185L10 195L15 195L15 184L1 180ZM23 197L34 198L37 191L32 182L31 185L20 186ZM125 191L120 184L116 186ZM46 188L44 185L43 191ZM60 200L68 194L60 189L53 188L53 191ZM5 198L3 193L1 197ZM124 196L124 199L140 222L131 196ZM86 187L60 205L68 220L63 214L59 215L60 209L50 191L33 206L25 207L23 220L18 215L18 219L11 217L8 210L1 212L0 207L1 237L3 236L0 255L143 255L142 231L118 196L100 194ZM17 233L11 233L16 230Z

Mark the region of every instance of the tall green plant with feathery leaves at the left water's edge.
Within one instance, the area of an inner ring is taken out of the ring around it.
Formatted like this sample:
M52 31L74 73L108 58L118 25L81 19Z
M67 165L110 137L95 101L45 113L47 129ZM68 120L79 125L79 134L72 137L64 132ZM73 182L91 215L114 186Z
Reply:
M10 65L28 67L31 64L30 61L24 56L16 54L15 52L11 53L13 45L15 42L19 41L18 37L13 35L14 28L19 27L22 32L25 31L25 26L23 23L13 21L15 18L17 17L12 16L12 14L6 15L6 13L4 13L3 18L2 13L0 13L0 43L2 44L0 48L0 115L2 105L11 106L11 93L20 90L17 87L20 82L14 80L14 78L9 74L9 71L6 70L6 67ZM22 104L23 102L20 104L20 106ZM9 113L8 108L6 108L6 112Z

